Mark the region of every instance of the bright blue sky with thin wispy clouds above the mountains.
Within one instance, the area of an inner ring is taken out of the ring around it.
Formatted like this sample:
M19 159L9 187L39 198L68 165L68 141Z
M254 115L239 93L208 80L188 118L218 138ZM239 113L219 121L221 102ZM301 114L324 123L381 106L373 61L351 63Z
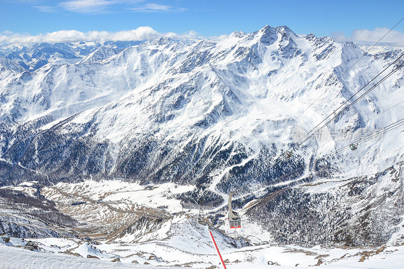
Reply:
M385 0L382 4L380 1L0 0L0 33L35 36L61 30L117 32L148 26L159 34L209 37L236 30L252 32L268 24L287 25L297 34L338 33L341 39L355 39L352 35L356 36L358 30L369 30L368 38L374 39L384 28L400 20L403 10L402 0ZM403 37L404 21L395 30L392 42Z

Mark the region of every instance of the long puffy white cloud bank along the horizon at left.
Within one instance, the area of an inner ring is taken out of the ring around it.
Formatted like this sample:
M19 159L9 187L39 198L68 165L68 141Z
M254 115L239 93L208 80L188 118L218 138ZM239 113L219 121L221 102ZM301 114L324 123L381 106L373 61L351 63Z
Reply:
M0 43L39 43L39 42L78 42L78 41L132 41L147 40L159 37L170 37L173 39L196 38L195 31L188 31L182 34L168 32L160 33L148 26L141 26L133 30L119 32L61 30L52 33L41 33L37 35L13 33L5 31L0 34ZM199 38L199 37L198 37Z

